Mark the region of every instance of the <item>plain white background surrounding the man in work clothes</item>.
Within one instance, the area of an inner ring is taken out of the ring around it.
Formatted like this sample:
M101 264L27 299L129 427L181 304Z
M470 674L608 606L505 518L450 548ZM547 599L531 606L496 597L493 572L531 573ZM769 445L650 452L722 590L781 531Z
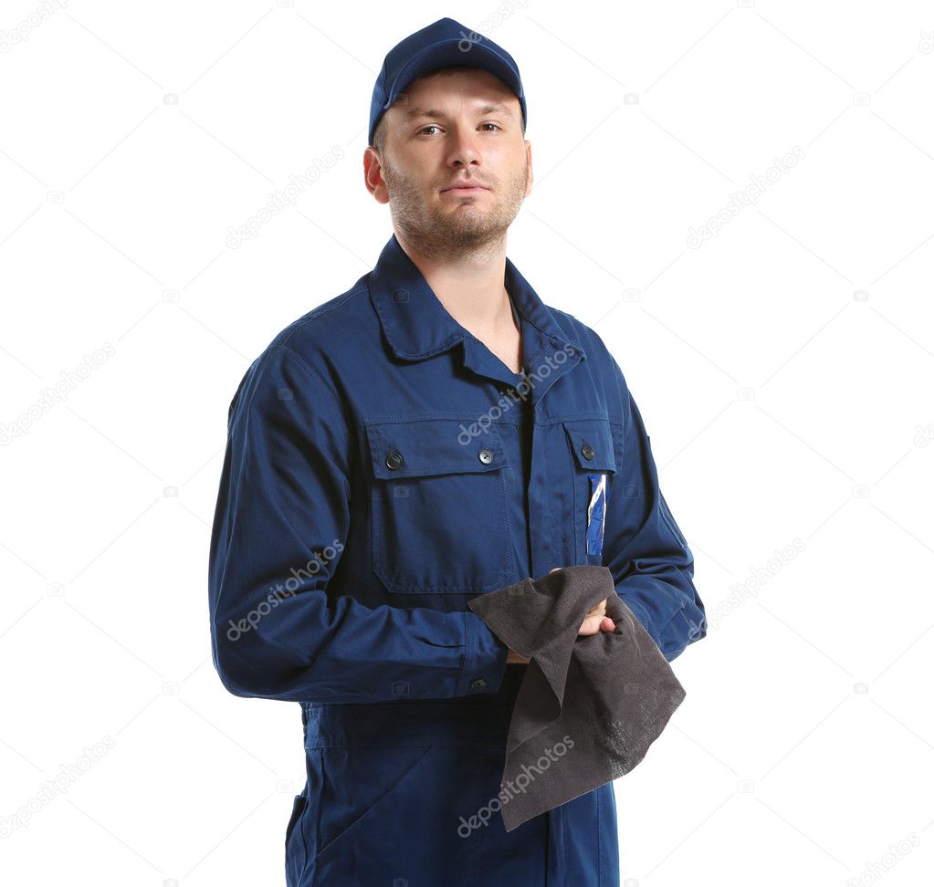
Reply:
M930 882L934 7L39 8L0 10L0 817L112 747L4 833L0 881L283 882L300 710L210 660L227 408L373 267L375 76L448 15L517 59L509 256L620 363L711 622L616 782L624 883Z

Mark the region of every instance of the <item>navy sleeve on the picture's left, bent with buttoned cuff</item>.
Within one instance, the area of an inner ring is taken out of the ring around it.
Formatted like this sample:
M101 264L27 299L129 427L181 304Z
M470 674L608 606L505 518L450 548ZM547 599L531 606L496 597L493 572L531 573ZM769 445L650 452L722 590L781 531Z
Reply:
M370 608L333 590L356 444L329 388L274 343L231 401L208 567L221 682L336 703L496 692L507 648L476 613Z

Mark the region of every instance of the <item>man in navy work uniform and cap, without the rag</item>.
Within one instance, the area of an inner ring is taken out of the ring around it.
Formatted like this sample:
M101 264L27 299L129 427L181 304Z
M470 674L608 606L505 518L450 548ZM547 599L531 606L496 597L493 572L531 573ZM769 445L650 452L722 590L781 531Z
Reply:
M529 660L467 602L597 564L667 659L706 634L616 360L506 258L526 117L512 57L458 22L392 49L363 171L394 233L231 402L214 664L237 696L302 704L290 887L616 887L612 783L509 833L488 815Z

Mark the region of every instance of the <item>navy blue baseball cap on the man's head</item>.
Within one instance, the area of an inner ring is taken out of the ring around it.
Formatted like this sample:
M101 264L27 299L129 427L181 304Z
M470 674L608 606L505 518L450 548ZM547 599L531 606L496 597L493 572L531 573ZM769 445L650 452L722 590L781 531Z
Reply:
M522 121L527 120L522 79L513 57L482 34L453 19L439 19L410 34L389 50L383 69L376 77L370 104L370 141L383 113L400 92L416 78L451 64L470 64L500 77L516 93L522 107Z

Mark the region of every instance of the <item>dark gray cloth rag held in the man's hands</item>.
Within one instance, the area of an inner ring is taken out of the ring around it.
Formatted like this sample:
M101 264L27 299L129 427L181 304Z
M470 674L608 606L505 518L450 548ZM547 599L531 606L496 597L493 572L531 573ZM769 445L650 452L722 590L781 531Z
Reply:
M603 598L616 631L578 635ZM500 800L507 832L628 773L686 696L606 567L563 567L468 606L531 659L506 739Z

